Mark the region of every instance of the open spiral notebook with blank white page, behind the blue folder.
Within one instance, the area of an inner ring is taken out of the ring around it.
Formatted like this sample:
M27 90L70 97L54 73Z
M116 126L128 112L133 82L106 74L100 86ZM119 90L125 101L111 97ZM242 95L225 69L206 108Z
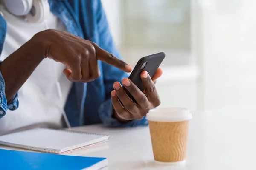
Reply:
M0 144L46 153L63 153L105 142L108 135L73 130L37 128L0 136Z

